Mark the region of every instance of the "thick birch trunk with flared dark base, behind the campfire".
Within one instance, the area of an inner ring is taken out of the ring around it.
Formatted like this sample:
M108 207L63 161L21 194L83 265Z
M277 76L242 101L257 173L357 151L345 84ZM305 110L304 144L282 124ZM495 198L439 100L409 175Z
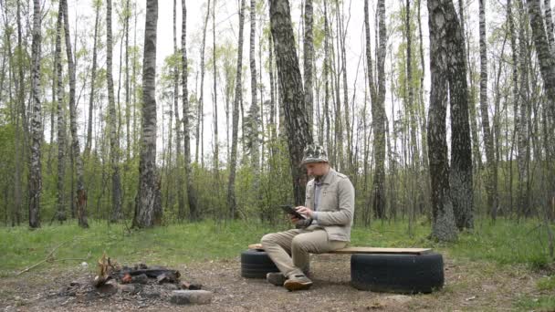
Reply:
M156 24L158 1L147 0L142 61L142 122L139 189L133 227L151 227L162 221L160 181L156 168Z

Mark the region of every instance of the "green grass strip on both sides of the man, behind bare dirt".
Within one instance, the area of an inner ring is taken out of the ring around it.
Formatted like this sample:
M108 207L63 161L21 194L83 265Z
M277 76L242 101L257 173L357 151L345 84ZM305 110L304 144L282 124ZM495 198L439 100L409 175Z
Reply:
M37 230L26 226L0 227L0 250L3 251L0 253L0 276L12 275L37 264L58 245L54 253L56 259L79 259L89 255L86 261L91 267L103 252L121 264L179 265L234 258L248 244L259 242L262 235L289 228L288 224L269 226L244 221L216 224L206 220L130 232L123 224L94 220L89 224L88 230L79 228L75 222L47 225ZM414 223L410 234L406 221L377 221L370 227L354 226L351 245L429 247L457 261L483 260L494 266L526 264L532 268L545 267L552 265L552 259L547 251L545 228L538 224L502 219L495 224L477 221L476 228L459 234L456 243L438 244L427 238L430 225L425 220ZM62 263L49 265L58 264ZM542 283L553 289L555 282L550 278Z

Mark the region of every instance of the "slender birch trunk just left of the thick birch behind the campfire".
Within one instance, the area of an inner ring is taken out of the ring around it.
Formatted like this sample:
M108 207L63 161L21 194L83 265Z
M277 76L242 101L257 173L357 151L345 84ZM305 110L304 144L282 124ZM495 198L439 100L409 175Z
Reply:
M111 221L121 218L120 140L114 102L114 80L112 78L111 0L106 1L106 80L108 84L108 111L110 129L111 167Z

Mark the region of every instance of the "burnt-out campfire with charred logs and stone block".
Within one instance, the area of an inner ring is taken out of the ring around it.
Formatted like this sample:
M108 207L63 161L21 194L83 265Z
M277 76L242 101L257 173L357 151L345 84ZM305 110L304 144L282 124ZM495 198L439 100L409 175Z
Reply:
M138 264L119 265L107 255L98 261L97 275L90 281L74 281L62 288L58 296L86 297L107 296L137 298L141 302L169 300L173 304L206 304L212 293L202 290L202 285L181 280L181 273L163 266Z

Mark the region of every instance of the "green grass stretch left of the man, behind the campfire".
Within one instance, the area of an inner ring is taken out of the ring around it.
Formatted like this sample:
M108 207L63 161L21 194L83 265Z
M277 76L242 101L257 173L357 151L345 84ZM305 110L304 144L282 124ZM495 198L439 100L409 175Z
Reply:
M95 265L106 252L120 264L137 262L177 265L194 261L217 260L238 256L248 244L257 243L263 234L276 231L262 224L230 222L215 224L172 224L128 232L122 224L89 222L88 230L76 223L0 228L0 275L25 269L45 259L56 247L56 259L89 258ZM60 245L61 244L61 245ZM72 260L79 263L79 260ZM56 262L58 264L59 262Z

